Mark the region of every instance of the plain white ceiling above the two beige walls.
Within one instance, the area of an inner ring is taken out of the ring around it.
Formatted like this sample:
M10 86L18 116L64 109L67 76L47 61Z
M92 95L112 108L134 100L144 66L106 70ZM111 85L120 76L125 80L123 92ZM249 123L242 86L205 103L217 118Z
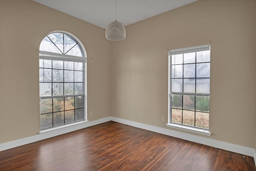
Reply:
M101 28L115 19L124 26L197 0L34 0Z

